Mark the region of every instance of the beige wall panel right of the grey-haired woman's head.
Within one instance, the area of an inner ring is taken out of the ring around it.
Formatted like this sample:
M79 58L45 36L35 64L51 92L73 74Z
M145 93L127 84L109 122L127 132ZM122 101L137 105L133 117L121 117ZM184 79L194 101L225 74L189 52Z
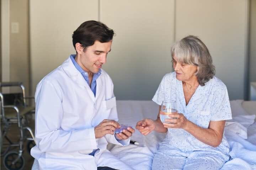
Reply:
M247 10L247 0L176 1L176 40L201 38L230 100L244 99Z

